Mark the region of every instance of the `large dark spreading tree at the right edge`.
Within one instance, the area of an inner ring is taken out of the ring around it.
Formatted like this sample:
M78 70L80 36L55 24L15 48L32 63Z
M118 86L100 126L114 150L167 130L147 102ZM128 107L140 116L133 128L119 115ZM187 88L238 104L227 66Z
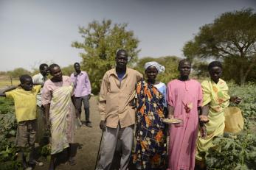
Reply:
M249 8L222 14L212 24L202 26L183 52L190 59L232 61L243 85L256 65L256 13Z

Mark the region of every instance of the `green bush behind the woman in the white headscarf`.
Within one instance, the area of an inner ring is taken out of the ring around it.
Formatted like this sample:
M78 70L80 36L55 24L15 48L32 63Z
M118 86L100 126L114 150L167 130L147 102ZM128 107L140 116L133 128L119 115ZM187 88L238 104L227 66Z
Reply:
M144 57L142 59L139 59L138 63L136 63L136 66L134 68L140 73L144 74L144 77L145 77L145 69L144 69L145 63L149 61L156 61L157 63L165 66L165 72L158 74L156 79L166 84L167 82L170 82L170 80L176 79L177 77L179 77L179 71L178 71L179 60L180 59L175 56L167 56L167 57L159 57L159 58Z

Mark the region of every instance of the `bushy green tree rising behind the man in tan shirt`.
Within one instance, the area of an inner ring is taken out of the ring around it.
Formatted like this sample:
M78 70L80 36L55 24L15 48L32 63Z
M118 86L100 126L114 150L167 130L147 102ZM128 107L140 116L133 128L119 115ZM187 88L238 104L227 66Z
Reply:
M83 49L81 68L91 77L93 93L100 91L100 81L105 71L115 65L115 55L118 49L128 52L132 65L139 53L139 40L134 38L134 32L127 31L128 24L112 24L111 20L92 21L87 27L80 26L79 33L83 42L73 42L72 47Z

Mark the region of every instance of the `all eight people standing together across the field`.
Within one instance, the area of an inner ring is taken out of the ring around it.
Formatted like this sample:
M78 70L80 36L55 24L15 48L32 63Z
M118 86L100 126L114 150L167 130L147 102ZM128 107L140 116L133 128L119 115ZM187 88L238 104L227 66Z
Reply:
M226 82L220 78L221 63L210 63L210 79L199 83L189 77L190 61L181 60L177 65L179 77L165 85L156 80L157 75L165 71L159 63L145 63L143 78L141 73L127 67L125 50L120 49L115 60L115 68L105 72L100 88L103 142L97 170L111 168L117 143L122 153L121 170L128 169L131 159L136 169L194 169L195 161L204 161L207 150L214 146L212 139L224 134L224 108L229 102L241 102L237 96L229 96ZM15 102L16 144L21 148L24 169L42 164L35 160L37 127L44 126L37 121L40 117L51 132L49 170L55 169L55 159L63 149L68 151L69 164L75 164L71 148L75 118L80 119L82 102L85 125L92 126L89 77L86 71L80 70L79 63L75 63L74 68L75 72L67 77L59 65L41 64L39 74L22 75L18 87L0 93ZM52 78L47 79L48 73ZM164 121L173 119L179 123ZM31 149L28 162L24 156L27 146Z

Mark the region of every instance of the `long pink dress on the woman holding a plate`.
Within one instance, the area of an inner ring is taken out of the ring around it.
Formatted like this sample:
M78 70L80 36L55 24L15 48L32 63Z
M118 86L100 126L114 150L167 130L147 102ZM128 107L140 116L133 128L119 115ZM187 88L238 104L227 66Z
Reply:
M198 135L198 106L201 106L201 85L194 79L174 79L167 85L167 104L174 107L174 118L181 124L170 126L168 170L193 170ZM186 109L185 108L190 108Z

